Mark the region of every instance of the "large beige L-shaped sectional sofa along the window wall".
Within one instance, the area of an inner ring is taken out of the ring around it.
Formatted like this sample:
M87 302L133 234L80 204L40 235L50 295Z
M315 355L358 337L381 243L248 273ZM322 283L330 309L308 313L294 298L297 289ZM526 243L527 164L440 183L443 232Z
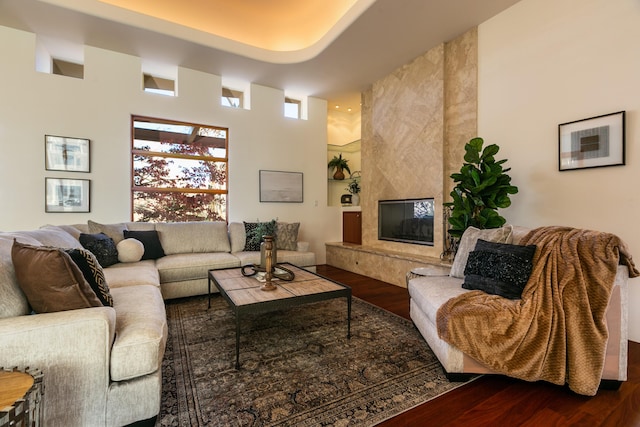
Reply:
M12 263L14 239L81 248L81 233L152 231L165 256L104 268L113 307L32 313ZM44 373L42 411L47 426L121 426L155 417L167 339L164 299L207 292L207 271L259 263L243 251L242 223L135 223L45 226L0 233L0 367ZM308 244L299 243L305 249ZM279 262L314 269L315 254L280 250Z

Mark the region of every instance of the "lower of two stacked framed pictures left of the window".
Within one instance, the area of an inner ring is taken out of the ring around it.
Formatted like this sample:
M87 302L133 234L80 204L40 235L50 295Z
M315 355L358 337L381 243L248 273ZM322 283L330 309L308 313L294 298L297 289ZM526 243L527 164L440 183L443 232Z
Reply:
M88 179L45 178L45 212L89 212Z

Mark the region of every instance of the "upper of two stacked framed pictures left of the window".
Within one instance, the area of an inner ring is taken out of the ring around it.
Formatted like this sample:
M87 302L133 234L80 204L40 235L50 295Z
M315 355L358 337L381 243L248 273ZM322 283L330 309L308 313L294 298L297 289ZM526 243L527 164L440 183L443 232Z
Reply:
M89 140L66 136L44 136L45 169L90 172Z

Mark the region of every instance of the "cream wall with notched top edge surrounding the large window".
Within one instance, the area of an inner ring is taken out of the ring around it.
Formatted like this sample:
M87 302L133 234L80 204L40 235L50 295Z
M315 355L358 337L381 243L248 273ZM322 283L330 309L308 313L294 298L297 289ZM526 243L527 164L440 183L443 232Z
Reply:
M0 27L0 230L93 219L131 219L131 115L229 128L230 221L301 222L318 263L341 240L340 209L327 207L327 105L309 98L308 120L283 117L284 92L251 87L251 110L220 106L221 77L178 68L178 96L141 89L141 58L85 47L84 79L35 71L32 33ZM91 172L45 171L44 135L91 140ZM260 203L260 169L304 173L304 203ZM44 178L91 180L91 212L45 213Z

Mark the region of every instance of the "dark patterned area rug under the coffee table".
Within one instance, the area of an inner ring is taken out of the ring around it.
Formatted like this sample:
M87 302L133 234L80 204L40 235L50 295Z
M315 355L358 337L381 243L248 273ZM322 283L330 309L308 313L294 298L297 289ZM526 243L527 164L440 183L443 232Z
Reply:
M158 426L371 426L461 385L413 324L353 298L241 322L219 295L167 302Z

